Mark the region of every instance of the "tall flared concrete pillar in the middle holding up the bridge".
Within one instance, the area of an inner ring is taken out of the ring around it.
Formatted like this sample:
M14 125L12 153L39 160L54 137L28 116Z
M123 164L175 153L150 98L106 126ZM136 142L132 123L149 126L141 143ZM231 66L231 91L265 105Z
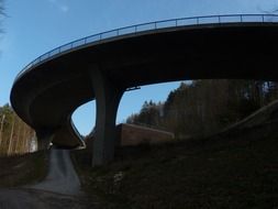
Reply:
M114 157L116 111L124 90L112 84L98 67L93 67L90 75L97 105L92 145L92 166L97 166Z

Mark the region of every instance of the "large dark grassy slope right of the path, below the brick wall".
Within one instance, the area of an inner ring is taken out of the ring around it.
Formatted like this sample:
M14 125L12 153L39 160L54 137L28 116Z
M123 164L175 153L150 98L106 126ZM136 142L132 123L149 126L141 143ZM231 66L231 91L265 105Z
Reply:
M163 145L116 151L90 167L71 153L84 190L111 209L278 208L277 122Z

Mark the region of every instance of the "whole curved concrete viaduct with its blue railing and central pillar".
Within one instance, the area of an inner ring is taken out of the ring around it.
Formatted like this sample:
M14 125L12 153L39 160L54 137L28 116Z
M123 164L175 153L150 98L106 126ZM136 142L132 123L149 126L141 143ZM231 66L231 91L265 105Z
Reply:
M41 147L49 141L76 147L82 141L71 114L96 99L92 163L100 165L113 158L116 110L129 88L205 78L278 80L275 20L275 15L175 19L88 36L26 66L13 84L11 103L35 129ZM186 21L191 22L182 24Z

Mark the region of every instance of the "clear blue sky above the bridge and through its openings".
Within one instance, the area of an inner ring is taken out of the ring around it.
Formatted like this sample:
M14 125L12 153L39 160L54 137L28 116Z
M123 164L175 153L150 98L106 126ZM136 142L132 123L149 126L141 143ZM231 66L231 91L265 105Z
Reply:
M67 42L108 30L156 20L193 15L265 13L278 0L5 0L0 38L0 106L9 102L16 74L27 63ZM163 101L178 82L126 92L118 122L137 112L145 100ZM94 124L90 102L74 114L81 133Z

